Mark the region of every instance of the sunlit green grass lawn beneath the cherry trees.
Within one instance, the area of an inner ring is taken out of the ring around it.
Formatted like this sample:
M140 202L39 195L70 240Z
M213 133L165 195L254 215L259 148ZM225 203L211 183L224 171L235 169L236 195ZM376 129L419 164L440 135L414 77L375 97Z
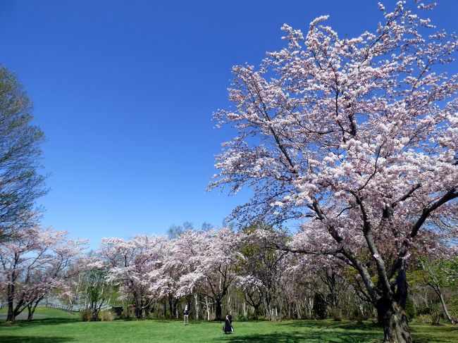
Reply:
M2 313L4 311L0 311ZM83 323L78 314L53 308L38 308L39 318L16 325L0 325L2 343L118 343L118 342L381 342L382 330L372 323L358 325L348 321L285 320L280 323L237 322L232 335L224 335L222 323L181 321L114 320L112 322ZM1 319L4 320L4 319ZM458 326L411 323L414 342L458 342Z

